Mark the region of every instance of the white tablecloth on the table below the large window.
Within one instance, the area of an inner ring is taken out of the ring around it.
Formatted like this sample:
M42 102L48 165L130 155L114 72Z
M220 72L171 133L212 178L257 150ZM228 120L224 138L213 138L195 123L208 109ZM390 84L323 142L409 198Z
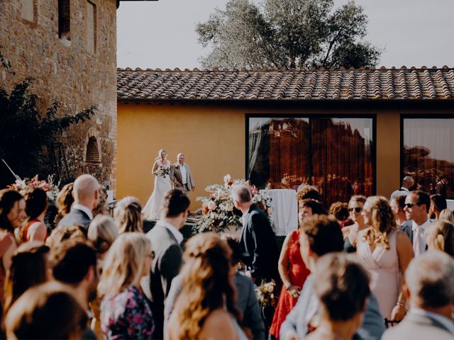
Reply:
M272 198L271 219L275 222L277 236L285 236L298 228L297 191L292 189L260 190Z

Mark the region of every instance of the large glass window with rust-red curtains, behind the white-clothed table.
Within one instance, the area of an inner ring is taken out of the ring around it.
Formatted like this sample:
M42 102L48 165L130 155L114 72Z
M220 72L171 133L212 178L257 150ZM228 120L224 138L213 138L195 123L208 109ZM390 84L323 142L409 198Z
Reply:
M319 188L325 204L372 195L372 118L248 116L248 178L259 188Z

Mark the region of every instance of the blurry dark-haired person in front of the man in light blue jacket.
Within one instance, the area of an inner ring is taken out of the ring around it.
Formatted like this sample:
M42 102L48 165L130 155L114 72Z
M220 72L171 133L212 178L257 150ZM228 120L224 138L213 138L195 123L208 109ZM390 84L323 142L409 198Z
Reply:
M317 263L314 280L319 325L306 339L353 339L370 296L367 271L353 255L327 254Z

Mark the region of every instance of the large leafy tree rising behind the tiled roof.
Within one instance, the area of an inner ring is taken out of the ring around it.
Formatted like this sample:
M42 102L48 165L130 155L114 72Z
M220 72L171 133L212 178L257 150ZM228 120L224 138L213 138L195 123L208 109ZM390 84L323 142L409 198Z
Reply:
M349 1L230 0L216 8L196 33L203 47L203 67L285 68L371 67L382 50L363 40L367 16Z

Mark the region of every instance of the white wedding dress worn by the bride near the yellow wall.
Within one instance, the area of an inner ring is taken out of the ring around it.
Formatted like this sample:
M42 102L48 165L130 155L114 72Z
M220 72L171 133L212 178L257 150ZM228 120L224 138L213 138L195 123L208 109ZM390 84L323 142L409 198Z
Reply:
M167 160L165 164L162 164L161 160L158 159L156 162L158 169L160 166L170 169L170 161ZM170 185L170 176L168 174L163 176L155 175L155 189L142 210L143 218L146 220L160 220L162 200L165 193L170 191L170 189L172 189L172 186Z

